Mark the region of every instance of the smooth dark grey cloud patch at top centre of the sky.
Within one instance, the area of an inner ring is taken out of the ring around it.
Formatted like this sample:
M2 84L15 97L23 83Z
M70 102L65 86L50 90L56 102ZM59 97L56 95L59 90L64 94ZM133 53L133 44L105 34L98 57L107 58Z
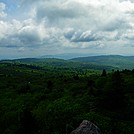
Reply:
M71 1L44 2L36 7L37 21L47 18L49 23L63 22L64 19L74 19L85 16L87 10L80 3ZM67 21L67 20L66 20Z

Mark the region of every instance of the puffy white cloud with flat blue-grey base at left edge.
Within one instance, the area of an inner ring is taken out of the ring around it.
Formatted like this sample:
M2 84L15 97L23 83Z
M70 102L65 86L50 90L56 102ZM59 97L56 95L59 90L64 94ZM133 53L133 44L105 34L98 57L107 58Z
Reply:
M1 21L0 24L0 47L39 47L44 45L44 40L50 39L43 23L14 20L11 23Z

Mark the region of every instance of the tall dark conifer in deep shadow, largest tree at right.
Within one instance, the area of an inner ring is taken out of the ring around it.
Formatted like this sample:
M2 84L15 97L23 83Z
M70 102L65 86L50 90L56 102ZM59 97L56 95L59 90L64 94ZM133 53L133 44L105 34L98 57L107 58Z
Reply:
M111 87L104 94L103 104L106 109L122 111L126 108L124 82L119 71L112 75Z

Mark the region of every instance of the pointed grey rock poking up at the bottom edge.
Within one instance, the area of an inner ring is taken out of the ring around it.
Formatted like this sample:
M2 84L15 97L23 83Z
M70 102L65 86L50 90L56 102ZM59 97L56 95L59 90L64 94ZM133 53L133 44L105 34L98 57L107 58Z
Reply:
M80 126L71 134L102 134L100 129L90 121L83 120Z

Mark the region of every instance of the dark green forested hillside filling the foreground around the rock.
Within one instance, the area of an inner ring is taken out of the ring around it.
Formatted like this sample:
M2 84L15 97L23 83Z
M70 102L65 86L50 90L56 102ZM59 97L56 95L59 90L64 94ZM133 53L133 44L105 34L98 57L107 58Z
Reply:
M84 119L103 134L134 132L134 70L42 64L0 63L1 134L69 134Z

